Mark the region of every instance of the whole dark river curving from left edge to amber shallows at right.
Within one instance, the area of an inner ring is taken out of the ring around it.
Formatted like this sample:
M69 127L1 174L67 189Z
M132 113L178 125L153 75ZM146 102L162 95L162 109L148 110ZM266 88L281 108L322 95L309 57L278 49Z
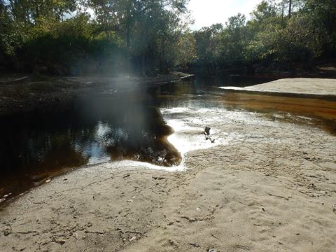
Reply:
M223 107L262 112L266 114L265 120L272 120L274 113L282 112L283 120L305 123L297 118L308 116L314 118L316 126L335 134L335 102L218 89L269 80L274 79L190 78L2 116L0 198L8 193L17 195L44 183L45 179L83 165L118 160L165 167L179 165L182 157L167 141L173 130L166 125L160 109Z

